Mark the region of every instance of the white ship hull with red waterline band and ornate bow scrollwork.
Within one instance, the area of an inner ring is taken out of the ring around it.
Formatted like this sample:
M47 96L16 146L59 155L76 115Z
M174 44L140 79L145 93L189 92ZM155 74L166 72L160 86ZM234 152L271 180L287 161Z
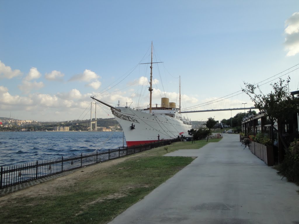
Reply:
M187 135L192 125L187 124L177 111L156 110L149 113L148 110L139 111L129 107L117 107L119 111L112 109L115 119L123 129L127 147L157 142L159 140L175 139L181 135ZM159 137L158 137L159 136Z

